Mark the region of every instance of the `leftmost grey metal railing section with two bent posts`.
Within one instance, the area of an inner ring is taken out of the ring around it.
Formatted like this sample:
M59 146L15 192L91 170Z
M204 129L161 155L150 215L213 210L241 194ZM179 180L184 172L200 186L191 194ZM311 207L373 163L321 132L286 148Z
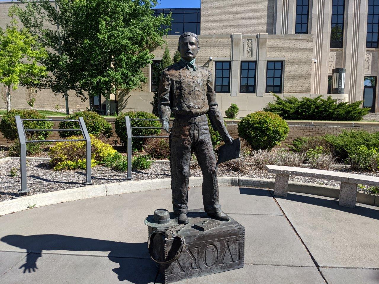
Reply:
M21 189L19 189L20 197L22 194L28 193L26 175L26 144L33 142L70 142L85 141L86 142L86 181L81 184L83 186L92 184L91 182L91 138L89 137L86 124L83 117L79 119L22 119L20 115L15 116L17 134L20 142L20 173L21 173ZM24 121L74 121L79 123L80 129L25 129ZM81 131L83 139L50 139L50 140L28 140L26 132L34 131Z

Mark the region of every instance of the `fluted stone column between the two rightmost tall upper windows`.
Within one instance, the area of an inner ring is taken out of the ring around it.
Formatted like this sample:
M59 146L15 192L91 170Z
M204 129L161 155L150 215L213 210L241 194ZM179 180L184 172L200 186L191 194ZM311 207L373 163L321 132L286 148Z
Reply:
M349 101L363 100L365 76L367 6L365 0L349 0L345 3L345 94Z

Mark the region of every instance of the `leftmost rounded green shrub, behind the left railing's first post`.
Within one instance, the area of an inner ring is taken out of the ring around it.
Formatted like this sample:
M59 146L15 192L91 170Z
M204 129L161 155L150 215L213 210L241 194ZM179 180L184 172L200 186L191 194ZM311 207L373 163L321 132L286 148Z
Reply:
M0 131L8 140L15 140L18 138L16 119L14 118L16 115L20 115L22 119L46 119L45 115L40 114L34 109L11 109L3 115L0 122ZM53 123L50 121L24 121L23 124L25 129L50 129L53 127ZM44 140L50 135L50 133L51 131L28 131L26 134L28 139L33 137L38 140Z

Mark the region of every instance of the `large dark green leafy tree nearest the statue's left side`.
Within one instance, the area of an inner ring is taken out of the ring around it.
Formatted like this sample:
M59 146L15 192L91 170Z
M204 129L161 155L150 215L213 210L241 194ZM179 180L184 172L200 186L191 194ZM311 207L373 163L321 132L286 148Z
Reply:
M76 67L82 67L80 86L90 95L110 96L119 89L132 90L146 83L141 68L152 63L150 51L164 43L171 14L153 16L157 0L92 0L75 15L72 36Z

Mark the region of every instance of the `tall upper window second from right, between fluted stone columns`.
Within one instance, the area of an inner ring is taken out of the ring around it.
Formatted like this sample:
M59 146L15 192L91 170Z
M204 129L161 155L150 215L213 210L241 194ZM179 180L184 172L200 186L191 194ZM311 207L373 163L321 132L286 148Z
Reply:
M330 30L330 47L343 47L344 17L345 0L332 0L332 28Z

